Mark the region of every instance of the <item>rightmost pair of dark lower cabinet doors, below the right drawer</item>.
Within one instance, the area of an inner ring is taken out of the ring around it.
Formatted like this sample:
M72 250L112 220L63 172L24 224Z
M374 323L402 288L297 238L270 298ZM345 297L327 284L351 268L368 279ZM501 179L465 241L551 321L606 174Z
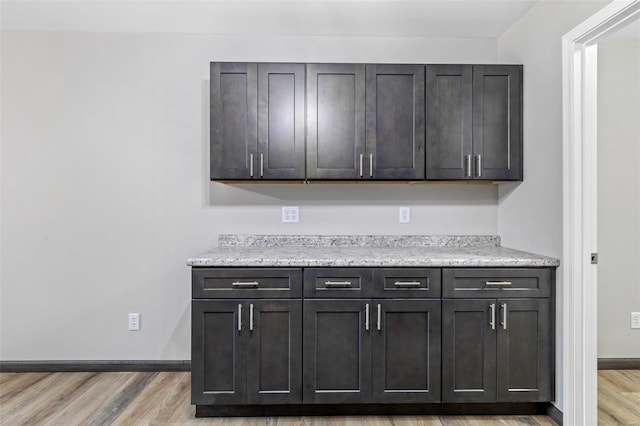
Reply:
M551 401L549 299L442 301L443 402Z

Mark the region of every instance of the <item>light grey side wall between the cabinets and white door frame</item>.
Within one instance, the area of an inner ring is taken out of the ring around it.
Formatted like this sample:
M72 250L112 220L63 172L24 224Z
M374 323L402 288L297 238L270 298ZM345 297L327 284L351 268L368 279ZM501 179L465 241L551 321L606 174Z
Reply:
M524 182L498 189L507 247L562 258L562 44L607 2L540 1L498 39L499 62L524 64ZM557 272L556 404L562 409L562 265Z

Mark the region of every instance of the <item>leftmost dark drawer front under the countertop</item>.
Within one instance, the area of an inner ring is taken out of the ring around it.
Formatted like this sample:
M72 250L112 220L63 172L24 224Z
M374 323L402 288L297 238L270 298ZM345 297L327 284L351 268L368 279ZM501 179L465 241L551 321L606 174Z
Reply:
M302 295L301 269L193 269L194 299L294 298Z

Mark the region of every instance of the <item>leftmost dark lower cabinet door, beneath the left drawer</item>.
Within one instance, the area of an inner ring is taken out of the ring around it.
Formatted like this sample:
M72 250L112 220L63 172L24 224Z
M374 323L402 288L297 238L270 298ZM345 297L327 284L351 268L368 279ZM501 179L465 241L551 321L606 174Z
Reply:
M242 300L194 300L191 309L191 403L244 404L246 339Z

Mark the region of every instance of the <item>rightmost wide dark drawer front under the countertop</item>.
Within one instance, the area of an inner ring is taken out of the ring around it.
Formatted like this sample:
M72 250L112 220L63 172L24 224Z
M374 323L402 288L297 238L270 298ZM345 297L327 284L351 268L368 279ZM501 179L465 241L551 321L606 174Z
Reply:
M457 268L442 270L442 297L551 297L550 268Z

